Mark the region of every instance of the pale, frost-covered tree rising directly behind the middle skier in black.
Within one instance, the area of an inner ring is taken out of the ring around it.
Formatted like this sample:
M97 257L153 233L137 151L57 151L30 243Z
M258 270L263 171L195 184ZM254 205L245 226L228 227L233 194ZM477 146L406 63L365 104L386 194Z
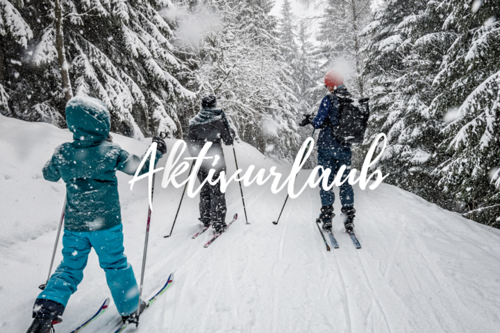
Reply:
M300 144L297 97L290 88L292 67L281 57L276 18L269 15L272 2L208 0L195 1L195 6L188 2L182 3L191 9L184 17L193 22L190 28L196 28L195 22L203 24L201 41L183 43L183 51L194 55L186 61L196 76L198 96L216 94L244 142L292 160ZM178 31L178 39L192 37L182 32Z

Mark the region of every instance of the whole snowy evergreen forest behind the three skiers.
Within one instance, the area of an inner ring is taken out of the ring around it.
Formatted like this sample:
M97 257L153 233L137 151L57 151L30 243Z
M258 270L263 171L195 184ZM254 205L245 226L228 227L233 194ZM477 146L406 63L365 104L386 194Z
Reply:
M318 8L295 17L299 3ZM0 0L0 113L65 128L106 103L112 131L182 139L213 93L238 137L292 162L329 69L368 96L385 182L500 227L500 0ZM315 155L307 166L313 167Z

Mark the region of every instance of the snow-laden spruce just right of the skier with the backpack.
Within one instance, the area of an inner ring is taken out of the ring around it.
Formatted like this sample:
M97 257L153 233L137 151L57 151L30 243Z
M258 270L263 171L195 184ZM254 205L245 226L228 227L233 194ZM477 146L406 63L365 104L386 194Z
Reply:
M431 87L447 49L455 39L441 31L444 10L435 1L389 1L364 33L373 36L367 48L365 73L375 89L365 151L380 132L387 134L387 151L380 165L391 173L387 182L433 203L452 208L433 170L443 127L429 111L437 94ZM425 180L425 181L422 181Z

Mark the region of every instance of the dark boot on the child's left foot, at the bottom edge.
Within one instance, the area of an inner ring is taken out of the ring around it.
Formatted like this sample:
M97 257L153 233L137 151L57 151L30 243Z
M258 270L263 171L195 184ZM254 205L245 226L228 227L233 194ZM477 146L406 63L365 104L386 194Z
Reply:
M37 298L33 306L33 323L26 333L53 333L56 332L53 325L61 323L63 319L64 305L53 300Z

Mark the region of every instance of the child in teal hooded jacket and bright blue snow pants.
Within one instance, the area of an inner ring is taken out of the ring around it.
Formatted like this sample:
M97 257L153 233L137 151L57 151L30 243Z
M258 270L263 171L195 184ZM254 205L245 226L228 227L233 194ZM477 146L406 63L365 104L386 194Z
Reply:
M124 321L133 321L139 289L131 264L124 255L122 217L116 171L133 175L142 158L108 142L110 113L102 101L74 97L66 105L66 121L73 142L61 144L45 164L46 180L66 183L63 261L38 295L28 333L47 333L60 316L69 297L83 279L90 249L106 272L108 287ZM163 139L157 142L156 161L167 153ZM140 173L149 170L149 160ZM142 302L141 309L145 307Z

